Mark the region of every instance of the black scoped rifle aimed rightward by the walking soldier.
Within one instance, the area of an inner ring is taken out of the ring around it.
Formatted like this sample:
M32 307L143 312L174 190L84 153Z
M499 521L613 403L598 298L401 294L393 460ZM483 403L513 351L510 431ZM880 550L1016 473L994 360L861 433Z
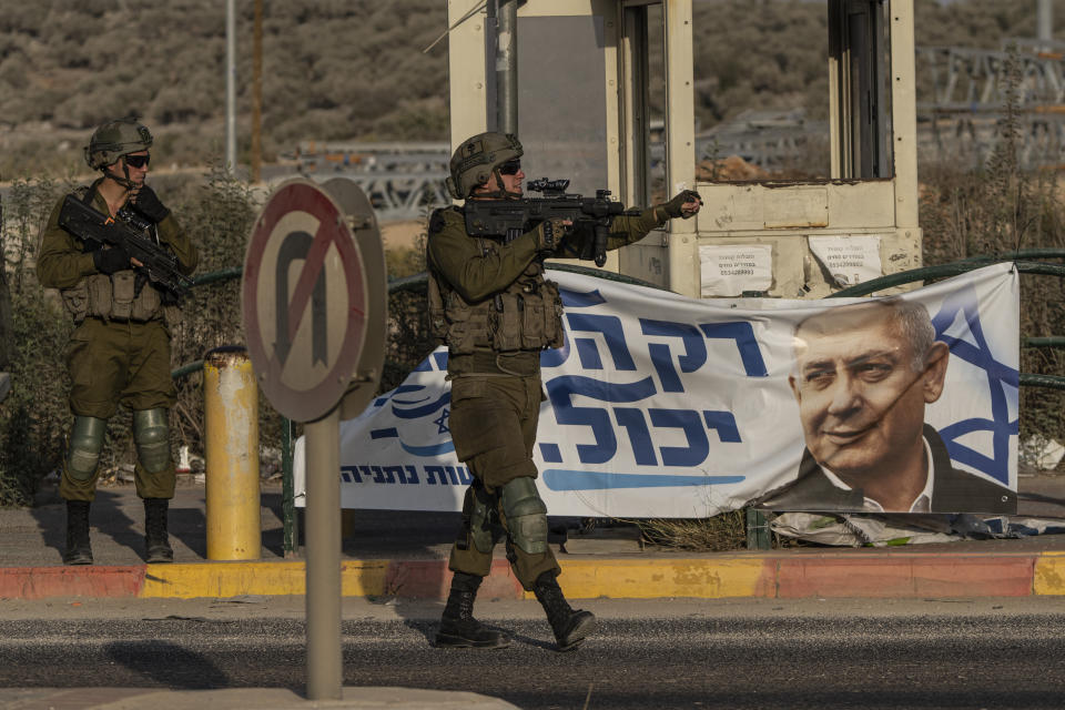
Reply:
M523 200L467 200L466 232L470 236L501 236L504 243L535 229L544 220L559 217L570 220L574 229L591 224L590 242L581 245L579 258L594 258L596 266L607 262L607 235L610 224L618 215L639 216L639 210L626 210L620 202L610 199L609 190L597 190L595 197L566 194L568 180L540 178L529 183L530 192L544 193L542 197Z

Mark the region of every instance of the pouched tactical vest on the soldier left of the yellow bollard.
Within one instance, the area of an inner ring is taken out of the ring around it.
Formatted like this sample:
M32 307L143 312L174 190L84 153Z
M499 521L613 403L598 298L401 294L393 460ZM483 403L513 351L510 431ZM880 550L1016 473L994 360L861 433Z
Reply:
M87 204L92 204L94 187L81 186L74 194ZM87 247L87 251L91 250ZM159 291L132 268L110 276L91 274L70 288L61 288L59 293L74 323L81 323L87 316L104 321L145 322L164 315Z

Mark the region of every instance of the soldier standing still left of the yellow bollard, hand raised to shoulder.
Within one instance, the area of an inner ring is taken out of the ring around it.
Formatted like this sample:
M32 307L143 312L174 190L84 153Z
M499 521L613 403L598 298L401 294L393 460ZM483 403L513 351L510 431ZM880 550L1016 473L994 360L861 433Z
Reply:
M191 274L196 248L144 184L152 134L132 119L102 124L85 146L85 162L102 176L72 194L102 214L142 231L176 256ZM176 400L170 377L170 324L174 294L156 287L120 247L82 240L59 225L60 200L41 235L37 273L59 288L78 327L67 345L74 423L59 493L67 500L68 565L91 565L89 506L95 497L108 419L119 403L133 412L136 494L144 500L145 559L170 562L166 511L174 497L169 409Z

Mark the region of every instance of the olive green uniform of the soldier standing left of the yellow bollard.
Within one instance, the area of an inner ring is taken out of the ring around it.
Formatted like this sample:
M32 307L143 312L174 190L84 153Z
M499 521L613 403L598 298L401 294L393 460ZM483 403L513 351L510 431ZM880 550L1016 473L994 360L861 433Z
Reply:
M108 214L106 202L94 185L74 194L84 199L89 191L92 206ZM62 199L41 234L37 274L43 286L60 290L78 323L65 352L72 381L71 410L75 416L108 419L120 403L134 412L169 409L176 393L170 376L166 316L176 315L176 306L164 305L164 294L133 270L112 276L98 272L90 246L59 225L61 207ZM168 214L155 232L159 242L178 257L180 268L191 274L199 255L174 216ZM164 470L149 474L139 457L134 476L140 497L173 497L172 462ZM60 495L67 500L91 501L98 477L99 468L88 479L72 478L64 462Z

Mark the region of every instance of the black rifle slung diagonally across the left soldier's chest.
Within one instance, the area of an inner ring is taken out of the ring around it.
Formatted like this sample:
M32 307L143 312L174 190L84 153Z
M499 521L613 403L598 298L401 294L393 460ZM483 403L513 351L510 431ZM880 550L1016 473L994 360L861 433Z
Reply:
M138 226L148 223L136 221ZM67 195L59 212L59 225L84 241L121 246L131 258L141 262L139 267L155 285L178 296L184 296L192 286L192 278L178 271L178 257L138 233L121 220L98 212L74 195Z

